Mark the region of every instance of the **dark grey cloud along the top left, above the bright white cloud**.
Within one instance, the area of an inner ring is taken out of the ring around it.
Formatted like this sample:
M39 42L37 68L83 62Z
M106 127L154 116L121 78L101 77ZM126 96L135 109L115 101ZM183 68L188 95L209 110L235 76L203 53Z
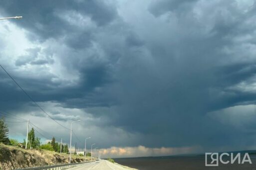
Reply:
M63 34L69 35L76 32L76 27L65 22L57 16L59 11L67 12L74 10L87 15L98 26L104 26L116 17L116 10L109 4L100 0L62 0L59 1L5 1L1 4L2 10L8 14L23 15L24 18L19 24L39 36L41 40L58 37ZM76 19L76 18L72 18ZM84 39L86 40L86 39Z

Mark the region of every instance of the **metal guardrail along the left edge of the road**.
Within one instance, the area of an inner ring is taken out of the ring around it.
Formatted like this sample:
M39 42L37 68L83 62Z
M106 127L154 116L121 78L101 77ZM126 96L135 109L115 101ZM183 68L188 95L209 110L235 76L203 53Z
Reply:
M15 170L64 170L71 167L77 167L82 166L85 164L90 164L92 162L86 162L86 163L72 163L72 164L59 164L59 165L53 165L53 166L45 166L45 167L35 167L35 168L24 168L24 169L15 169Z

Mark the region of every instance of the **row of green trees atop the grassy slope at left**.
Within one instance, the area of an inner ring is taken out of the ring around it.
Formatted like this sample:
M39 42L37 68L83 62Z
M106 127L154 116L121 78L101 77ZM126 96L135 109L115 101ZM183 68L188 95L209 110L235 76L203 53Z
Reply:
M14 139L8 139L8 126L6 123L4 123L4 119L0 119L0 143L6 144L6 145L18 145L18 141ZM41 145L40 138L35 136L35 131L34 128L32 128L29 133L28 133L28 138L27 138L27 148L31 149L45 149L49 151L55 151L60 153L69 153L68 146L63 145L60 146L58 142L56 142L55 138L53 137L51 142L48 142L47 144ZM23 140L22 143L23 146L26 145L26 141Z

